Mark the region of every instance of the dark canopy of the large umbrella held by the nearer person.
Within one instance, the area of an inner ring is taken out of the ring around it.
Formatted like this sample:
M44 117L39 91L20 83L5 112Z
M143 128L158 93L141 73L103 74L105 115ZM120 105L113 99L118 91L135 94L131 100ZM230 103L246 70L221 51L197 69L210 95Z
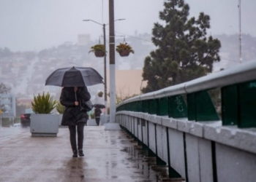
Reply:
M75 67L59 68L53 71L45 85L59 87L87 87L103 83L102 76L94 68Z

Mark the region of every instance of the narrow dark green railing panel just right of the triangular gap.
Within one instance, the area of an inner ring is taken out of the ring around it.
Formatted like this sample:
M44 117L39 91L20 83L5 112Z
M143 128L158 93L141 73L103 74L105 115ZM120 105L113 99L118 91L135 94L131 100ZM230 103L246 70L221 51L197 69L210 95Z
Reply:
M222 125L238 124L237 85L222 87Z

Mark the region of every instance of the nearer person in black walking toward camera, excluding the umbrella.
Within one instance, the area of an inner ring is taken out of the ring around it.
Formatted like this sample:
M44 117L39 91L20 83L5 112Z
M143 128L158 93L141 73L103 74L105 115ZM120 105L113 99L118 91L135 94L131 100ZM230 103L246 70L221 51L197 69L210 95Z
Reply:
M83 127L89 119L86 111L81 110L80 100L90 100L87 87L64 87L61 90L60 103L65 106L61 120L62 126L69 127L69 139L73 151L72 157L83 157ZM78 147L76 142L78 132Z

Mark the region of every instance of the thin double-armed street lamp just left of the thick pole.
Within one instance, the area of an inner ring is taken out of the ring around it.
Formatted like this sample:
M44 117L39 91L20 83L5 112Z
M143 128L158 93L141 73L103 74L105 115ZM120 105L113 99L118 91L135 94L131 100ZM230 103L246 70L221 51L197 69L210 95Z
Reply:
M117 19L117 20L115 20L115 21L120 21L120 20L125 20L124 18L122 18L122 19ZM104 47L106 48L106 30L105 30L105 27L106 27L106 25L108 25L108 24L105 24L105 23L98 23L97 21L94 21L94 20L83 20L83 21L91 21L91 22L94 22L94 23L97 23L97 24L99 24L99 25L102 25L103 26L103 39L104 39ZM107 61L106 61L106 54L105 54L105 56L104 56L104 80L105 80L105 84L104 84L104 100L105 100L105 109L106 109L106 111L105 111L105 114L107 114L107 112L108 112L108 99L107 99Z

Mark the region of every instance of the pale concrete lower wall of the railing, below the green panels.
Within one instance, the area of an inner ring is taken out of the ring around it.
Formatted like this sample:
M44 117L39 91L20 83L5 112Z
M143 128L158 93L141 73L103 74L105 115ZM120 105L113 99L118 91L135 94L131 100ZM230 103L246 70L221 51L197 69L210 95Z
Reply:
M116 114L117 122L124 124L122 119L128 119L127 129L189 182L256 181L256 132L252 129L131 111Z

